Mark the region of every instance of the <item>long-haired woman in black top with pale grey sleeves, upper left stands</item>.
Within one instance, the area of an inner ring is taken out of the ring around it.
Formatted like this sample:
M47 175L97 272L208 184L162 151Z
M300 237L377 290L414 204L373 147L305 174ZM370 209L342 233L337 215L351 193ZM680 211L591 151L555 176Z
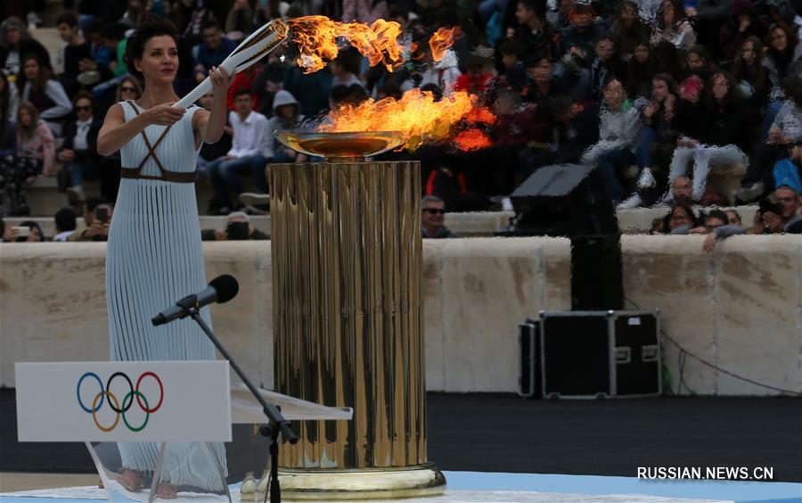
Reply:
M53 131L53 136L61 136L62 125L72 111L64 87L36 54L23 55L21 65L16 81L21 100L37 108L39 118Z

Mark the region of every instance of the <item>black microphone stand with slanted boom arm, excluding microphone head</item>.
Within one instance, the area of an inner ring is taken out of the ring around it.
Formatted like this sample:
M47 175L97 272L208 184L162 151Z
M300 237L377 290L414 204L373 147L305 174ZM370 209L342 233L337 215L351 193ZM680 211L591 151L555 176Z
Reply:
M270 422L269 425L262 425L259 428L259 433L270 439L270 503L281 503L282 489L278 481L279 436L283 435L284 439L290 443L298 442L298 437L290 428L290 421L284 419L284 416L282 416L282 413L278 407L265 401L265 399L262 397L262 394L256 389L256 386L250 382L248 376L242 372L240 366L237 365L237 363L231 358L231 355L228 354L228 351L225 350L223 344L217 340L214 332L212 332L211 328L206 325L206 322L203 321L203 318L201 317L201 311L197 307L197 296L190 295L189 297L184 297L184 299L178 301L178 305L184 308L187 314L195 320L195 323L201 326L203 332L207 337L209 337L209 341L211 341L217 350L220 351L220 354L223 355L223 358L228 361L228 364L233 368L233 371L240 376L242 382L248 386L250 393L254 396L254 398L257 399L259 405L262 406L262 411L265 413L265 416L267 416L267 419Z

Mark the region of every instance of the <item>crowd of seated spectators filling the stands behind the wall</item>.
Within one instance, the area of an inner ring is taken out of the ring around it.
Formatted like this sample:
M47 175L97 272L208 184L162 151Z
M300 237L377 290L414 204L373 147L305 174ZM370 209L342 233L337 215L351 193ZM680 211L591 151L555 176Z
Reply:
M688 209L727 203L728 194L707 183L708 173L716 165L740 165L746 175L737 202L759 201L763 215L749 230L796 228L802 194L800 0L65 0L56 20L63 41L59 74L29 31L38 18L26 12L27 4L0 9L4 215L28 215L26 186L55 175L65 203L80 212L100 197L110 218L119 154L101 157L95 144L110 104L142 93L124 56L127 36L144 16L176 24L175 86L184 95L265 22L323 14L397 21L415 42L413 53L393 71L370 67L356 50L343 47L337 59L311 74L279 54L238 73L224 139L201 147L198 177L208 178L215 194L209 214L268 210L266 165L307 161L277 143L275 130L298 127L339 103L397 98L419 87L438 99L466 91L495 112L495 121L482 126L491 140L487 148L464 153L452 144L431 144L387 154L421 161L424 194L439 200L424 208L431 219L442 219L438 210L446 206L500 207L537 169L582 162L598 166L607 194L620 207L666 205L667 218L655 223L655 232L716 234L717 226L697 225ZM435 62L426 43L430 34L457 26L462 37ZM210 100L206 95L198 104L208 108ZM633 167L636 175L626 177ZM245 192L242 178L250 178L253 191ZM100 181L99 194L86 194L90 179ZM788 194L793 214L783 202ZM766 213L778 219L766 219ZM719 214L706 215L705 222L724 223ZM94 208L88 217L87 224ZM102 237L102 226L80 233L86 237Z

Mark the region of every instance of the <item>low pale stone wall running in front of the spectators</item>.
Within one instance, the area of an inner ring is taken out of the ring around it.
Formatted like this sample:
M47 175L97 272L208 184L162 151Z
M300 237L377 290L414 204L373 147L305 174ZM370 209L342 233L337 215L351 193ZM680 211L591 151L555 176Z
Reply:
M625 236L627 298L660 309L665 332L700 358L802 391L802 238L735 236L713 253L703 239ZM541 309L569 309L569 241L426 240L423 252L428 389L515 392L516 327ZM209 278L240 281L240 294L212 309L218 335L272 387L269 243L204 243L204 253ZM102 243L0 245L0 384L13 385L15 361L108 359L104 264ZM675 384L678 358L666 343ZM683 376L702 394L777 394L692 358Z

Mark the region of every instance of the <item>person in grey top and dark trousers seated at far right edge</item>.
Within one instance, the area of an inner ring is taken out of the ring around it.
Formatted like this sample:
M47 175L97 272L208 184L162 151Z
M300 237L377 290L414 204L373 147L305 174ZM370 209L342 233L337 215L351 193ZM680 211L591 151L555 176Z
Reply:
M788 146L802 140L802 80L796 79L792 99L782 103L769 136L749 160L749 169L736 194L740 202L755 201L773 188L773 168L788 154Z

